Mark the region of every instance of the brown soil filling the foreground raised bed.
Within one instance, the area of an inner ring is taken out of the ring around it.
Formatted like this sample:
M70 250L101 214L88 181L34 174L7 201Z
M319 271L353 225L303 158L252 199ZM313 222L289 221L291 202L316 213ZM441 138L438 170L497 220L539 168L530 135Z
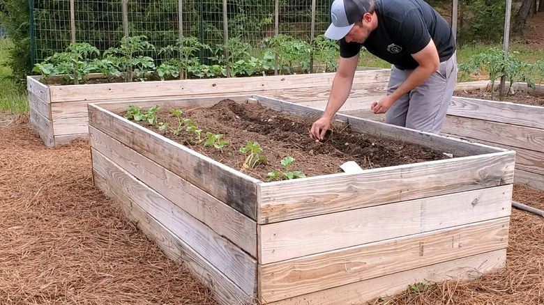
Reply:
M156 114L158 122L167 122L171 127L177 128L178 119L169 114L172 108L161 107ZM181 134L175 135L172 130L160 131L158 125L139 123L260 180L264 180L271 171L285 171L280 161L287 156L296 160L289 167L289 171L303 171L306 176L340 173L340 165L347 161L355 161L363 169L372 169L448 158L444 152L411 143L393 142L370 134L354 133L349 126L343 129L334 127L323 142L316 142L310 137L312 120L273 111L261 104L237 104L232 100L222 100L211 108L182 110L182 117L198 123L198 128L203 130L202 135L206 132L223 134L222 141L229 144L220 152L211 146L204 146L204 142L188 143L186 139L195 134L186 132L185 127L181 128ZM263 149L260 155L268 158L255 169L245 169L243 166L245 157L239 148L245 146L247 141L258 142Z

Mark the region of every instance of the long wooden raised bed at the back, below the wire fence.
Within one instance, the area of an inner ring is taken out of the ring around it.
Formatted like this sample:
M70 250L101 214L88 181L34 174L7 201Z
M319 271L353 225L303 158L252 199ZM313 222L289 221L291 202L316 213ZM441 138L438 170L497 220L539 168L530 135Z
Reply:
M385 91L390 70L356 72L354 90L358 95ZM46 146L68 144L88 136L86 105L90 102L128 101L197 95L266 94L287 95L293 100L328 95L335 73L241 77L230 79L190 79L133 83L48 86L42 77L27 77L31 124ZM98 77L91 75L91 78ZM50 83L59 77L50 77ZM301 101L305 101L302 99ZM314 105L319 106L319 105ZM324 106L323 106L324 107Z

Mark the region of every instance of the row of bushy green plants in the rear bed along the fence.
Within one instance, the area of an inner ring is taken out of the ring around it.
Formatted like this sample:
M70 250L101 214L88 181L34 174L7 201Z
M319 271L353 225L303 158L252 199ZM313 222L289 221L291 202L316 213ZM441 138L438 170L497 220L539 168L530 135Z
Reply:
M257 58L250 54L252 47L240 38L231 38L225 45L210 47L196 37L187 36L178 40L176 45L156 49L145 36L125 36L120 47L109 48L103 54L88 43L70 44L66 52L55 53L37 63L33 71L40 73L46 83L49 77L63 75L64 84L81 84L90 73L101 73L108 81L121 77L123 81L225 77L227 65L232 76L252 76L265 75L273 70L277 58L280 72L292 74L294 66L301 67L303 72L310 70L311 54L317 64L325 66L324 71L338 68L338 45L324 36L318 36L310 45L280 34L262 40L262 48L262 58ZM212 65L200 62L197 56L200 49L211 51L213 56L208 59ZM149 56L153 53L174 59L157 66Z

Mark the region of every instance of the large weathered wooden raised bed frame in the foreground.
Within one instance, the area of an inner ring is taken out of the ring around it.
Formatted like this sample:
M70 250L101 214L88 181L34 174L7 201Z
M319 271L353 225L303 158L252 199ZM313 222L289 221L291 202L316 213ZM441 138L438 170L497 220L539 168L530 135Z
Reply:
M310 120L322 113L229 99ZM188 111L220 100L89 104L89 134L95 184L221 304L361 304L504 265L514 151L338 115L354 135L453 157L264 182L119 116L130 104Z

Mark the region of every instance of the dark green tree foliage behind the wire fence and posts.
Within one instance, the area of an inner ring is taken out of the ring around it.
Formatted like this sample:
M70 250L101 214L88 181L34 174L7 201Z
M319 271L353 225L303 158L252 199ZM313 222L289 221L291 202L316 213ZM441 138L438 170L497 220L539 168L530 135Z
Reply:
M451 0L428 0L446 19ZM240 37L259 50L257 42L273 36L272 0L229 0L229 37ZM331 0L317 0L316 35L328 26ZM13 40L9 65L17 79L31 70L28 0L0 0L0 24ZM311 0L280 0L280 33L309 41ZM458 44L500 42L506 0L461 0ZM517 3L517 4L516 4ZM70 43L70 1L35 0L36 61L62 52ZM178 0L129 0L129 35L144 35L160 49L174 45L178 34ZM515 2L513 16L519 1ZM76 41L89 42L100 51L119 46L123 37L121 0L76 0ZM222 0L183 1L183 34L213 45L222 43ZM202 22L200 21L202 19ZM448 19L449 20L449 19ZM513 19L512 22L515 22ZM202 26L202 29L201 29ZM149 54L152 56L152 54ZM206 58L210 54L202 54ZM159 58L157 65L164 59Z

